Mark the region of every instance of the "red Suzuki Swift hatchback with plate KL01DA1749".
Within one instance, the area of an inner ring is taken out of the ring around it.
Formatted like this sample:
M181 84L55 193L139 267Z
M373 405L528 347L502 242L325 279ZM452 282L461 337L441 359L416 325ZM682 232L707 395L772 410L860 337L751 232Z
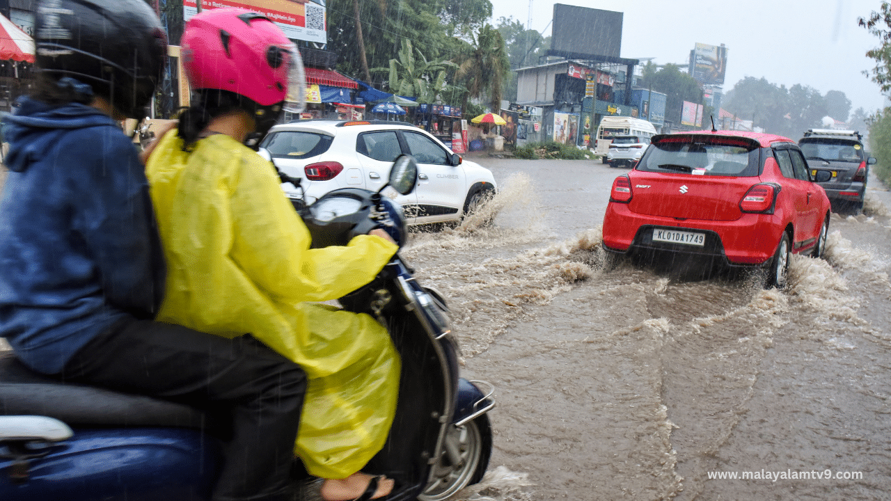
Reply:
M828 172L817 171L818 176ZM789 138L740 131L653 136L613 182L603 248L682 253L728 267L768 267L784 287L790 253L819 257L830 201Z

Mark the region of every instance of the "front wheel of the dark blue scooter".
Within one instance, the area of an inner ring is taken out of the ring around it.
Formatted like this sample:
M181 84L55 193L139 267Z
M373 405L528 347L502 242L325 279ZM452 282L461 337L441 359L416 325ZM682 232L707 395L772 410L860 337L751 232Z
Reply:
M450 449L454 456L447 452ZM418 499L445 501L459 490L482 480L491 455L492 426L488 416L480 415L462 426L450 426L442 456L433 464L433 480Z

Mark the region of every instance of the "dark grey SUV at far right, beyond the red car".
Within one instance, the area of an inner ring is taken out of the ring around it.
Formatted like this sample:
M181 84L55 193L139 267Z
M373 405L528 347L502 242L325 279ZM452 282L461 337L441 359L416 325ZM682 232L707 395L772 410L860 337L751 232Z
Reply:
M830 179L821 183L833 209L859 214L866 195L866 180L876 159L868 156L863 138L855 130L812 128L798 141L811 166L811 174L828 171Z

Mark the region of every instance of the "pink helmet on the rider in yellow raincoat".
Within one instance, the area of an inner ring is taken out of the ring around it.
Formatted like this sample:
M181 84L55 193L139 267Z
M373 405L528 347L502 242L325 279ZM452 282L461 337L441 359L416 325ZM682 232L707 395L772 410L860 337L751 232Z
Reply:
M225 90L260 106L287 100L302 108L303 62L265 15L237 8L200 12L186 23L182 46L192 89Z

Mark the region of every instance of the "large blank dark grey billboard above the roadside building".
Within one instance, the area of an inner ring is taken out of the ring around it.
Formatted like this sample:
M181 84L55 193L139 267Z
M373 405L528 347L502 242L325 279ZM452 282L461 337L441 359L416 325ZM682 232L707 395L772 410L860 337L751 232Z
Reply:
M622 12L554 4L551 49L619 57Z

